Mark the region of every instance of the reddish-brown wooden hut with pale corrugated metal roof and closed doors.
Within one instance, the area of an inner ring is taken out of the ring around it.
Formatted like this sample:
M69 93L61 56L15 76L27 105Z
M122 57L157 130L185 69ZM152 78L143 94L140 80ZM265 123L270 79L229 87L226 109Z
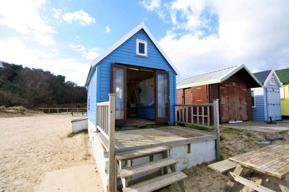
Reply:
M253 120L251 88L262 87L244 65L204 73L177 82L177 104L206 104L219 99L220 122ZM188 109L188 121L191 111ZM201 111L193 110L192 116ZM210 111L213 115L213 111ZM213 120L213 119L212 119Z

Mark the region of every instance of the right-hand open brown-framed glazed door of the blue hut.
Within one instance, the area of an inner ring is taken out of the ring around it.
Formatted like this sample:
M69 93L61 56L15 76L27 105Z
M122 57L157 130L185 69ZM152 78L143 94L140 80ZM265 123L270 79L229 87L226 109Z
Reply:
M169 72L156 71L156 122L169 122Z

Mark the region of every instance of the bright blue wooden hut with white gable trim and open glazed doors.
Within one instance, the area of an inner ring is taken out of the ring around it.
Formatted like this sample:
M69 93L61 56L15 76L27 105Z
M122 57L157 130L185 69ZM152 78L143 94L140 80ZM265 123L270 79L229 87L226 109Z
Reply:
M116 94L115 125L174 123L179 71L144 22L92 60L86 80L87 117L96 126L96 104Z

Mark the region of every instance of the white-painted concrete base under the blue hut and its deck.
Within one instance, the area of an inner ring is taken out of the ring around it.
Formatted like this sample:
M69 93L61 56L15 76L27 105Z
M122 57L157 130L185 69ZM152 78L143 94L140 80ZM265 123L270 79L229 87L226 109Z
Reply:
M93 148L93 154L95 157L99 174L101 176L104 190L107 192L108 153L104 149L104 147L102 147L101 142L98 140L97 136L95 135L96 133L94 133L94 131L96 131L95 126L88 120L88 133L89 133L89 138L90 138L91 145ZM177 163L177 170L184 170L184 169L191 168L192 166L196 166L197 164L201 164L203 162L215 160L216 159L216 147L215 146L216 146L215 140L204 141L204 142L199 142L199 143L191 143L191 153L188 153L188 144L172 146L171 150L169 151L169 156L179 161L179 163ZM158 160L161 158L162 158L161 154L154 155L154 160ZM130 160L127 161L124 167L140 165L140 164L148 163L148 162L149 162L149 157L142 157L138 159L133 159L132 161ZM163 172L162 169L160 170ZM133 176L133 179L142 177L144 175L148 175L155 171L156 170L147 172L141 175L135 175ZM130 181L131 179L132 178L129 178L128 181ZM120 184L121 184L121 180L118 179L118 185Z

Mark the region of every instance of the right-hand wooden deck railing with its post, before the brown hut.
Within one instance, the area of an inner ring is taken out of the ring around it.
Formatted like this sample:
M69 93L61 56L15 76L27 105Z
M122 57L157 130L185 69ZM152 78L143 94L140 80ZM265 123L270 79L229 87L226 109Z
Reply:
M214 127L210 126L210 112L212 111L212 107ZM216 159L220 160L219 99L209 104L176 104L175 125L178 123L214 129L217 136Z

